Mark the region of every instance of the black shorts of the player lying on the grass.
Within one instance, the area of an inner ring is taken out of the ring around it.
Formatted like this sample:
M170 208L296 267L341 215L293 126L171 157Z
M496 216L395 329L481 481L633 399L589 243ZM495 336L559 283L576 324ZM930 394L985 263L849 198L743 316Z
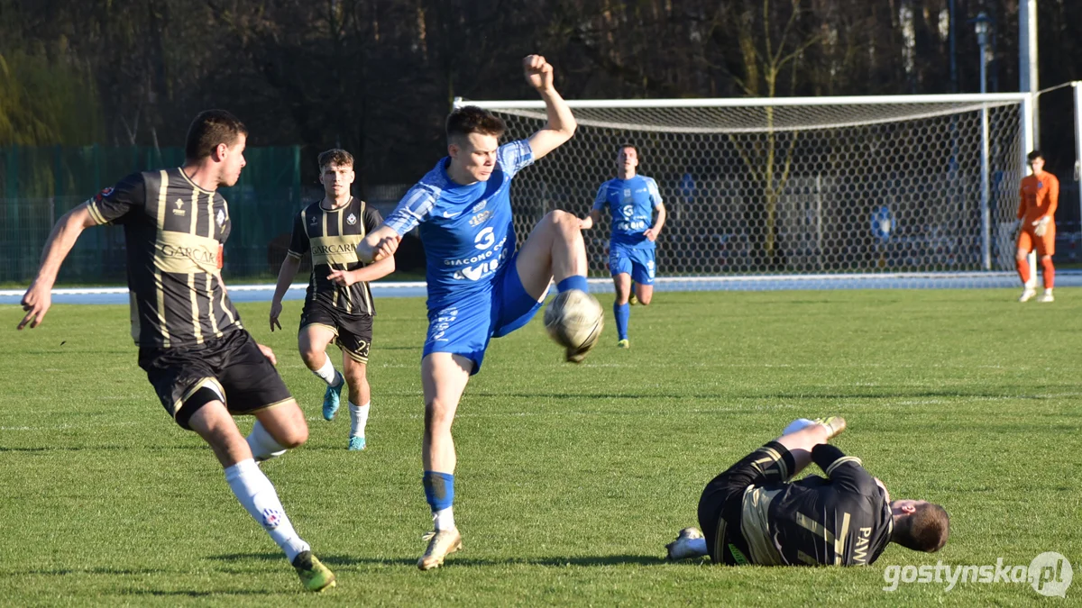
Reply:
M711 560L729 565L747 563L751 552L740 533L744 490L787 481L795 467L793 454L781 444L770 441L707 484L699 499L699 527Z

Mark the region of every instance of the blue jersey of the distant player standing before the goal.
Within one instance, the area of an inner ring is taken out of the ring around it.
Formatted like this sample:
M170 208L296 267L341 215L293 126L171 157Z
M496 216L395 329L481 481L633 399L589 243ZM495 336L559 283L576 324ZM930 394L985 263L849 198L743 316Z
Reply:
M602 184L594 209L608 209L612 217L612 244L652 249L654 241L643 234L654 225L654 210L661 207L661 193L650 177L609 180Z

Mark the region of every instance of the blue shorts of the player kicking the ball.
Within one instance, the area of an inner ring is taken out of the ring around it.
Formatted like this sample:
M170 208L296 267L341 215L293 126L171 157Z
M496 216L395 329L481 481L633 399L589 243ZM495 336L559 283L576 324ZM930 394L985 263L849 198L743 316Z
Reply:
M471 374L480 371L485 349L492 338L507 335L530 322L541 308L539 302L523 287L515 261L518 254L497 273L491 291L478 293L454 304L428 310L428 334L424 354L451 353L474 362Z

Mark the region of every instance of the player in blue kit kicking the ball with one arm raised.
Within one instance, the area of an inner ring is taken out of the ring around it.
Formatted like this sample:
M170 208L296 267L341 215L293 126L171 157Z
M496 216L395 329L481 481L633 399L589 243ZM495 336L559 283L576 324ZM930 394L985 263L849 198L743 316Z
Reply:
M437 568L462 546L454 525L454 441L451 421L489 339L525 326L541 307L549 283L560 292L586 290L586 250L579 220L545 215L516 252L511 179L575 134L575 117L553 87L540 55L523 60L526 81L544 100L547 124L529 140L499 145L504 123L477 107L447 118L448 157L413 186L375 232L357 247L362 261L393 255L401 236L420 227L427 256L428 334L421 360L424 388L424 493L435 532L418 561ZM585 353L567 353L580 361Z

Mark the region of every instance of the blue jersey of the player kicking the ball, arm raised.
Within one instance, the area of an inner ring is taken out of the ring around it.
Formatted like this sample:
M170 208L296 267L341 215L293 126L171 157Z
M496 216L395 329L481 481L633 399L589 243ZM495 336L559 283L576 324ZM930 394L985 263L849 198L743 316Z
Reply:
M399 236L420 225L430 310L491 291L515 252L511 179L533 162L533 150L526 140L500 146L488 181L465 186L448 177L450 160L437 162L384 221Z

